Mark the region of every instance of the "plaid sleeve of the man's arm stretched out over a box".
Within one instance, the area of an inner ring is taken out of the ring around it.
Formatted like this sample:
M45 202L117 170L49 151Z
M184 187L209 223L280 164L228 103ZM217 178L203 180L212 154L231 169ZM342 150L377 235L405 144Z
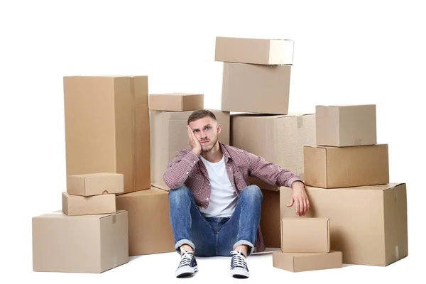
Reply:
M249 175L251 176L278 187L291 187L295 181L303 182L295 173L280 167L280 165L270 163L264 158L247 151L246 155L249 160Z

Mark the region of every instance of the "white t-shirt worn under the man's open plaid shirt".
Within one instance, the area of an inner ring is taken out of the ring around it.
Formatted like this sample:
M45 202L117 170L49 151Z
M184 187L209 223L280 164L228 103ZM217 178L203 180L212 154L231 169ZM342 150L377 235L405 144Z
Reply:
M205 217L231 217L236 207L237 195L226 173L225 159L211 163L200 155L200 159L209 173L209 182L212 192L209 207L200 211Z

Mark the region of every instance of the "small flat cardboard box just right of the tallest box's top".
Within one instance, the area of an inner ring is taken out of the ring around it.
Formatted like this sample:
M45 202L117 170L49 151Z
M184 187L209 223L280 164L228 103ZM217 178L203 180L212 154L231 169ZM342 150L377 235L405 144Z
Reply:
M150 94L149 109L157 111L195 111L204 109L204 94Z

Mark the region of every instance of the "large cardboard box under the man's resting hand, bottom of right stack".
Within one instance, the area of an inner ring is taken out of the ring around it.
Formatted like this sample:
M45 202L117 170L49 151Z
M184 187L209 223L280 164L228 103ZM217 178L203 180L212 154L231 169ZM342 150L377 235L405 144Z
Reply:
M388 266L408 256L407 189L405 183L325 190L306 187L310 211L304 217L330 219L332 251L343 263ZM281 218L295 217L285 207L291 189L281 187Z

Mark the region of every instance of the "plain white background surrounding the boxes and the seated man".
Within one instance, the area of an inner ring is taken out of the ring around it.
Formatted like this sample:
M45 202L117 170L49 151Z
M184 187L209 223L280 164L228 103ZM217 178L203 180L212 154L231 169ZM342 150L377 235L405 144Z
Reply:
M150 93L203 92L204 107L220 109L218 35L295 40L290 111L376 104L378 143L389 145L391 182L406 182L408 189L407 258L385 268L290 273L273 268L271 255L253 256L246 281L396 283L422 271L422 1L208 2L1 1L1 283L234 281L229 258L200 258L194 278L176 279L177 253L132 258L99 275L32 271L31 217L60 209L65 190L62 76L148 75Z

